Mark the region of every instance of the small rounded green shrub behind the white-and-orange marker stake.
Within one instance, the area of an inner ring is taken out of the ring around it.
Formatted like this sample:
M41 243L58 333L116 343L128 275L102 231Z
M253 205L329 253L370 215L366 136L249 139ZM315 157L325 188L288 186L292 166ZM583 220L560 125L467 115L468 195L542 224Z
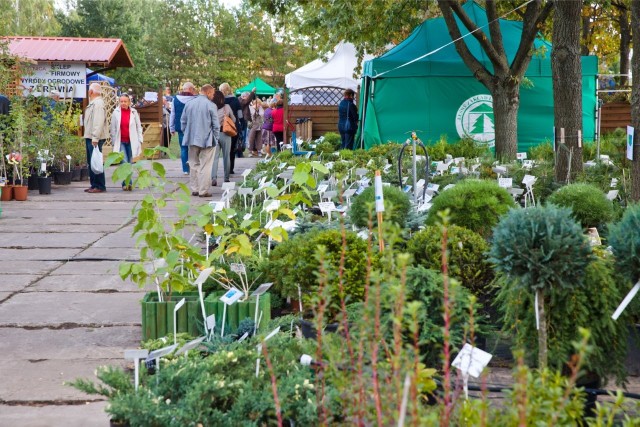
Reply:
M383 187L382 194L384 196L384 221L391 221L404 227L411 209L409 197L402 190L393 186ZM375 188L368 187L353 199L349 209L349 218L356 227L368 227L369 216L372 217L373 226L377 227L375 196Z

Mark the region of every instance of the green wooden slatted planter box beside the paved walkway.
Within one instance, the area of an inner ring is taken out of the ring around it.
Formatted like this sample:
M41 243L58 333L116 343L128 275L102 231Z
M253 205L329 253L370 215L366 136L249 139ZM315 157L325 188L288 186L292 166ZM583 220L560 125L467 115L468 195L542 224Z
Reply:
M221 292L213 292L205 297L204 302L207 316L212 314L216 316L217 331L221 329L224 313L224 303L219 300L221 295ZM141 301L143 341L161 338L173 333L173 311L182 298L185 299L185 304L177 312L176 331L187 332L192 336L203 334L204 320L198 292L174 292L170 301L162 302L158 301L156 292L149 292ZM255 308L255 298L227 306L225 333L235 331L243 319L253 319ZM260 329L264 329L265 325L271 320L271 299L269 294L260 297L260 311L262 312Z

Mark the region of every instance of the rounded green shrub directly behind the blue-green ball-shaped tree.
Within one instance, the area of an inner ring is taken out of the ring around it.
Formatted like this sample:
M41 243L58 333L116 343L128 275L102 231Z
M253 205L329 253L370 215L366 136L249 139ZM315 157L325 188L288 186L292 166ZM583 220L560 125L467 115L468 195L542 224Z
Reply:
M555 191L547 203L571 208L582 228L599 227L613 219L613 204L596 186L569 184Z

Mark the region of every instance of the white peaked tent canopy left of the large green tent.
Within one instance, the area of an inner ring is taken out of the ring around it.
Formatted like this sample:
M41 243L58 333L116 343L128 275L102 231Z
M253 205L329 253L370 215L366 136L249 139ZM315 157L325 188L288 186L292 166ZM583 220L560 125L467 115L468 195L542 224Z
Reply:
M364 64L364 61L371 58L373 56L365 55L362 63ZM340 42L333 54L329 54L327 61L316 59L303 65L287 74L284 82L292 90L313 86L334 86L357 91L360 81L353 77L357 64L358 57L355 46L351 43ZM357 77L360 74L361 69L356 72Z

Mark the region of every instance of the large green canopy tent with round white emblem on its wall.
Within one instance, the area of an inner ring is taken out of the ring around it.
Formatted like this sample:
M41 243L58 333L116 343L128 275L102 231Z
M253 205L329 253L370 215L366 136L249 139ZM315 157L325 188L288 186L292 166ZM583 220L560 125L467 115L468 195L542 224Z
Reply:
M487 30L485 10L475 1L463 5L469 17ZM456 18L457 19L457 18ZM461 33L467 34L458 22ZM505 52L513 60L522 22L500 19ZM465 37L473 55L489 70L491 62L473 36ZM582 57L583 138L595 136L596 57ZM538 38L520 88L518 151L553 139L551 44ZM365 62L360 94L361 146L403 142L408 132L435 142L442 135L456 141L468 135L493 146L493 100L451 43L444 18L423 22L402 43Z

